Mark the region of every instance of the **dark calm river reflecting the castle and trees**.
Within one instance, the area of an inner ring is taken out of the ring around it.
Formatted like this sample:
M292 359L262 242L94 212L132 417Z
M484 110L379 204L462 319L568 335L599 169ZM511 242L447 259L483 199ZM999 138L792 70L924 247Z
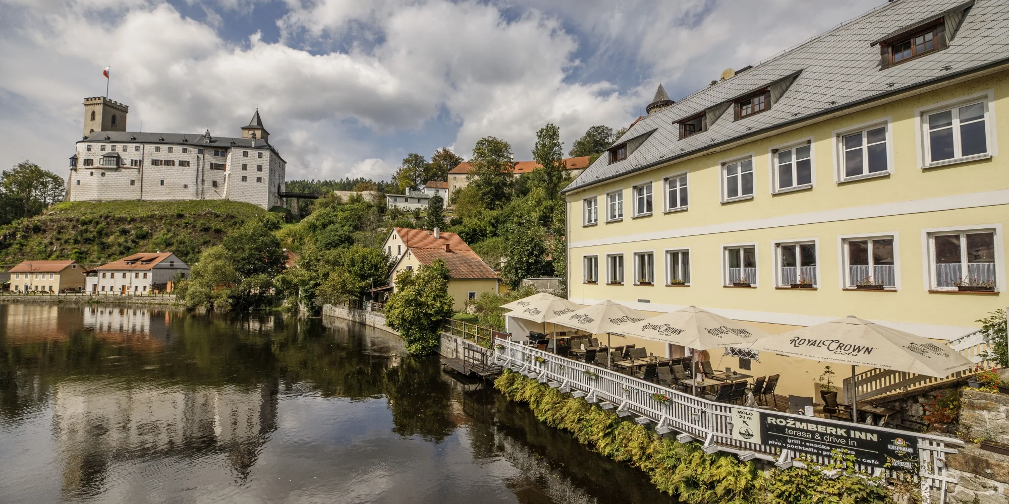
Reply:
M374 329L0 303L0 502L674 501Z

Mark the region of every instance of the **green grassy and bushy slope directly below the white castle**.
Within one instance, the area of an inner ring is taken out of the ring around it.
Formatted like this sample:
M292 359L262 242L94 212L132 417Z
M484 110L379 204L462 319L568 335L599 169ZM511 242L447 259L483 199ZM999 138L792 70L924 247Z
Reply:
M255 205L216 200L65 202L0 227L0 264L25 259L101 263L155 250L170 250L192 264L231 230L267 215Z

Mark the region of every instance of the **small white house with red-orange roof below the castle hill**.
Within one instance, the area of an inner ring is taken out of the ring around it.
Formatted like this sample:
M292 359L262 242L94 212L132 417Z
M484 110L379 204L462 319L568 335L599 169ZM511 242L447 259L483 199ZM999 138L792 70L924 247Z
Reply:
M190 267L172 252L141 252L87 271L92 294L171 292L176 275L189 278Z

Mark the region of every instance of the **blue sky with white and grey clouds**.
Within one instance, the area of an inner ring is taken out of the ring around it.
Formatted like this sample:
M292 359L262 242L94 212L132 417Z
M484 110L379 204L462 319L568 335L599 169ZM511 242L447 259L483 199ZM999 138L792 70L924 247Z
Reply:
M388 178L480 137L531 159L679 100L885 0L0 0L0 168L68 173L85 97L129 131L240 136L259 109L289 180Z

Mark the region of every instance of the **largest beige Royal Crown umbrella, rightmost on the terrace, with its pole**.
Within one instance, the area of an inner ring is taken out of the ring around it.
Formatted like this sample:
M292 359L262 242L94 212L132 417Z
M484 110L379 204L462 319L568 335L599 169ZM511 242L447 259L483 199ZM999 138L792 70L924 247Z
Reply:
M758 340L755 350L852 366L852 420L858 420L855 367L944 378L974 367L957 351L927 338L848 316Z

